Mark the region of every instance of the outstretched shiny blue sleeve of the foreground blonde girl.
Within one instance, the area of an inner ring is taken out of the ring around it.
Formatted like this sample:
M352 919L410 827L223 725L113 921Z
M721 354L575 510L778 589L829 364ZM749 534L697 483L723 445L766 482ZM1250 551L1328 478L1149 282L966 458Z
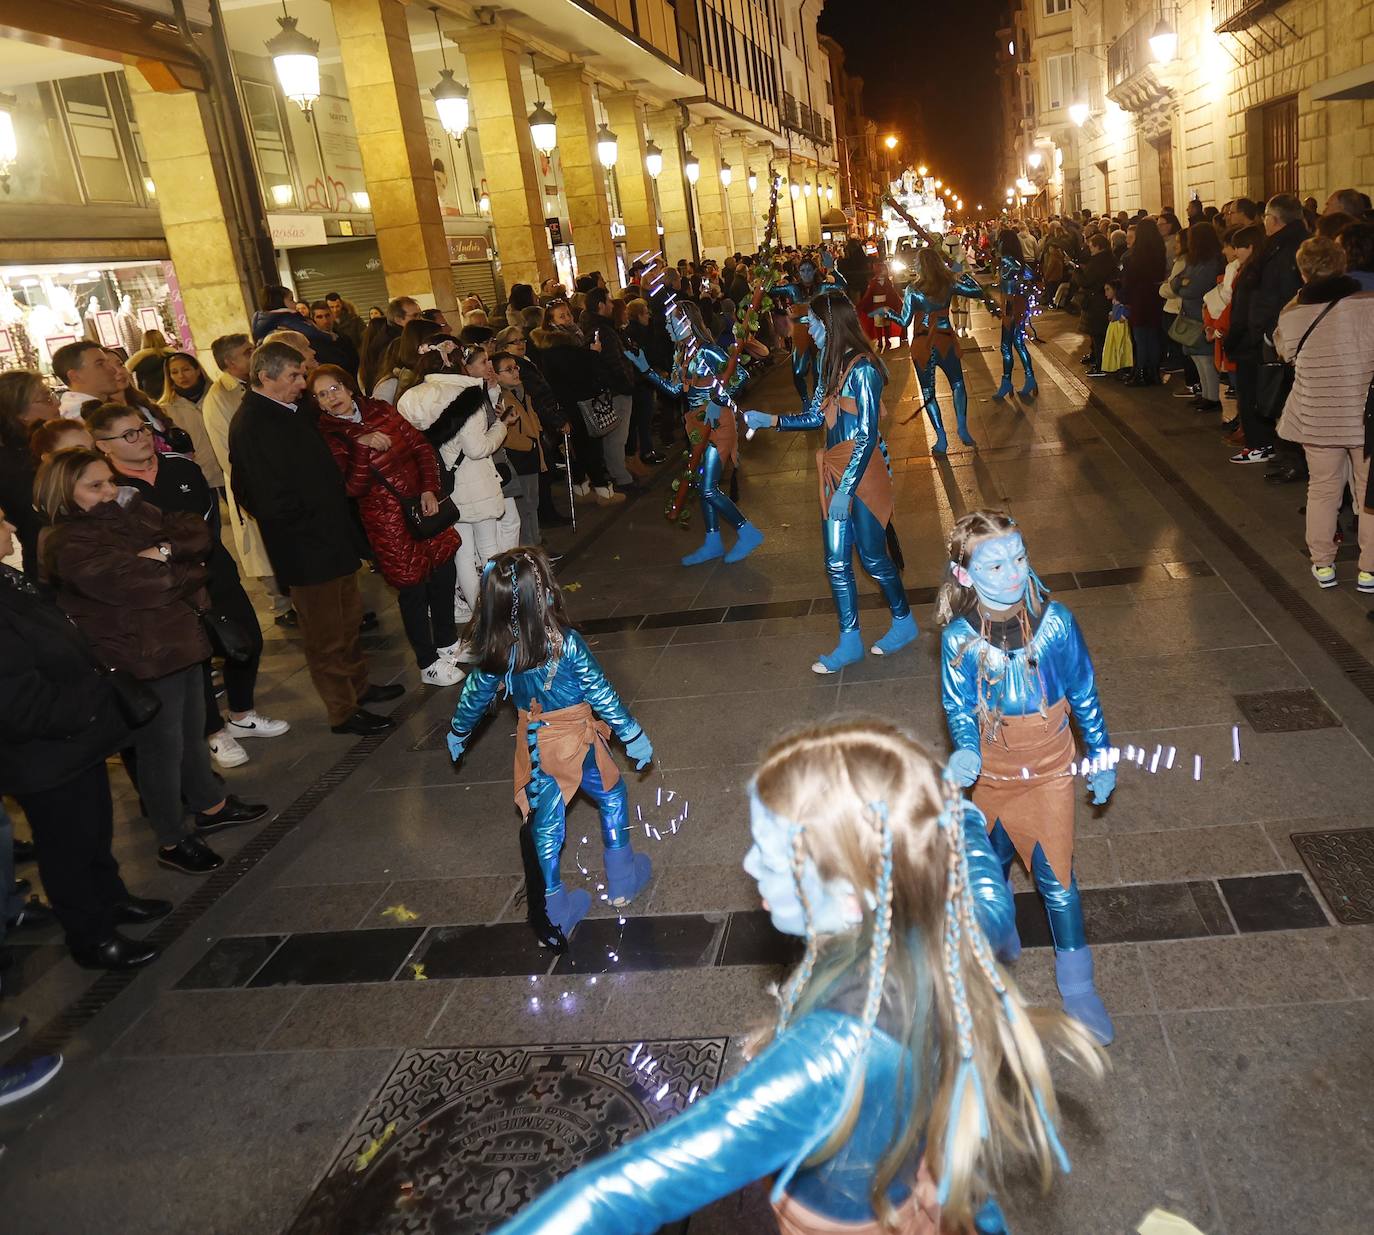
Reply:
M804 1017L734 1080L574 1170L493 1235L653 1235L813 1148L844 1114L859 1022Z

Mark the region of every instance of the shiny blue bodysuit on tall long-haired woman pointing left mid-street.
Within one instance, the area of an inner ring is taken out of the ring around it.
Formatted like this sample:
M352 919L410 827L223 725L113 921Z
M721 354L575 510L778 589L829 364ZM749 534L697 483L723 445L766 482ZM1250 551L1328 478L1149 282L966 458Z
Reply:
M889 474L892 470L888 462L888 446L878 429L878 420L882 415L883 382L882 371L870 357L864 356L849 370L841 389L831 398L827 398L824 390L818 389L807 411L778 418L778 429L783 431L824 427L827 451L842 442L853 442L853 455L834 486L835 497L848 496L848 515L845 518L822 518L826 577L835 599L841 639L845 635L857 635L859 631L859 596L853 567L856 548L864 570L882 588L893 620L911 617L907 591L901 585L901 576L888 552L886 521L879 521L856 496L860 478L870 462L875 467L888 468ZM834 415L834 423L829 427L827 404L833 405ZM845 404L852 404L852 409L846 408Z

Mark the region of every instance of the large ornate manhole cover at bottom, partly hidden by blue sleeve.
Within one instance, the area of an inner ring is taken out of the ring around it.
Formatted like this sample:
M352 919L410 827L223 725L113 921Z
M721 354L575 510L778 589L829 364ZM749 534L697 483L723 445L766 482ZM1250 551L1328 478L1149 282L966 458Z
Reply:
M407 1051L290 1235L482 1235L709 1092L724 1054L725 1039Z

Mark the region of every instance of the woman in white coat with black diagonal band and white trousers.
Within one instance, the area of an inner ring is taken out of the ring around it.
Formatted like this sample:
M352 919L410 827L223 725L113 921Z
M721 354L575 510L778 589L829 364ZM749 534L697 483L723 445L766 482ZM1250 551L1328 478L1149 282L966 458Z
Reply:
M502 477L492 456L506 441L502 420L488 423L486 382L463 370L463 345L452 335L436 335L419 349L412 383L401 392L396 409L423 433L453 474L458 507L459 621L475 610L482 566L500 551L500 522L506 514Z

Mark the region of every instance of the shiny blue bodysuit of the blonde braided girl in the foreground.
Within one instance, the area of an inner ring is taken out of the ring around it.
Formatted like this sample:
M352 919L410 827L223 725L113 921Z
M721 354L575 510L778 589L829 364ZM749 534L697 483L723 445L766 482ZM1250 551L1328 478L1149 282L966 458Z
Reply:
M977 914L993 947L1015 929L1015 908L982 817L965 813L969 876ZM916 949L912 949L914 955ZM918 982L929 992L929 979ZM886 1032L883 1004L863 1051L857 1004L861 989L845 979L816 1010L797 1018L739 1076L629 1144L589 1162L497 1228L497 1235L651 1235L754 1180L782 1173L782 1187L813 1213L837 1223L872 1223L870 1181L899 1124L911 1111L911 1059ZM929 1014L926 1007L919 1017ZM848 1113L856 1067L864 1070L863 1103L838 1153L805 1159ZM889 1195L911 1192L919 1151L899 1172ZM1003 1235L991 1198L978 1212L980 1235Z

